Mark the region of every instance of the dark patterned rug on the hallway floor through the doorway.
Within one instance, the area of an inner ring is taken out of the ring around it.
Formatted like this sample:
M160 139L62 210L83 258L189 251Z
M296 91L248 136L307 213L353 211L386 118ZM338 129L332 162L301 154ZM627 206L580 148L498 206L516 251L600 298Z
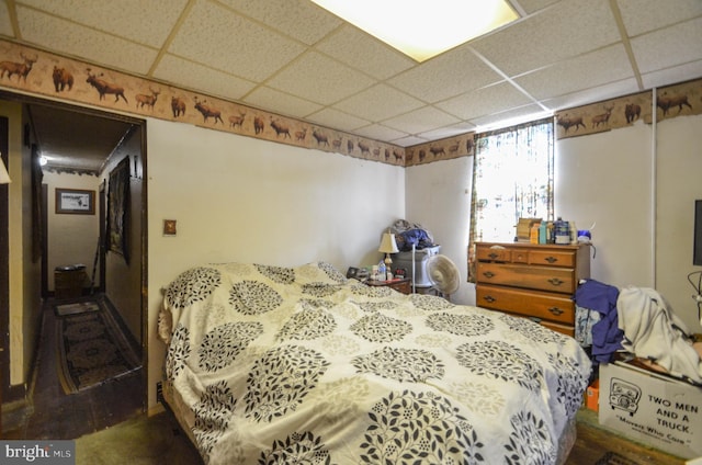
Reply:
M99 303L95 311L56 319L58 374L66 394L99 386L140 367L110 310Z

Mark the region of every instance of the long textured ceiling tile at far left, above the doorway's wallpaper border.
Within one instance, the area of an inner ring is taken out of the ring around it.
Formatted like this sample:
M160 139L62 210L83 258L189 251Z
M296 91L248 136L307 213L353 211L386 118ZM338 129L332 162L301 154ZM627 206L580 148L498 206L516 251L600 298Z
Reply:
M88 61L144 75L157 50L56 16L18 5L24 41Z

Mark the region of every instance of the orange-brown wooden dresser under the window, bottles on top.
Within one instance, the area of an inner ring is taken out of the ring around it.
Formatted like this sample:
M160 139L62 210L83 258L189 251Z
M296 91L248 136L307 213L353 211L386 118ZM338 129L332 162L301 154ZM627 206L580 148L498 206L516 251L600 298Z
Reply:
M476 304L575 336L573 295L590 277L590 246L478 242Z

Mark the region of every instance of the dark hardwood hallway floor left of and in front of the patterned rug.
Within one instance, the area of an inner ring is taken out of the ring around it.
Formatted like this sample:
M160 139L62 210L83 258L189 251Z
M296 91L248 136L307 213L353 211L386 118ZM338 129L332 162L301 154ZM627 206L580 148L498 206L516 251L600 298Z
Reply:
M64 393L57 372L54 302L43 309L42 340L31 396L24 407L2 412L3 439L77 439L144 411L143 370L76 394Z

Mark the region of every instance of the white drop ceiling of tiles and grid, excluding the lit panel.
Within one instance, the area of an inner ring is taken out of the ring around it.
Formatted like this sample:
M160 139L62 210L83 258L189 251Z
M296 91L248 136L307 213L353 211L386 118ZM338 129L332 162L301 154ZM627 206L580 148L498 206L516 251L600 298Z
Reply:
M699 0L510 3L421 64L309 0L0 0L0 38L400 147L702 77Z

